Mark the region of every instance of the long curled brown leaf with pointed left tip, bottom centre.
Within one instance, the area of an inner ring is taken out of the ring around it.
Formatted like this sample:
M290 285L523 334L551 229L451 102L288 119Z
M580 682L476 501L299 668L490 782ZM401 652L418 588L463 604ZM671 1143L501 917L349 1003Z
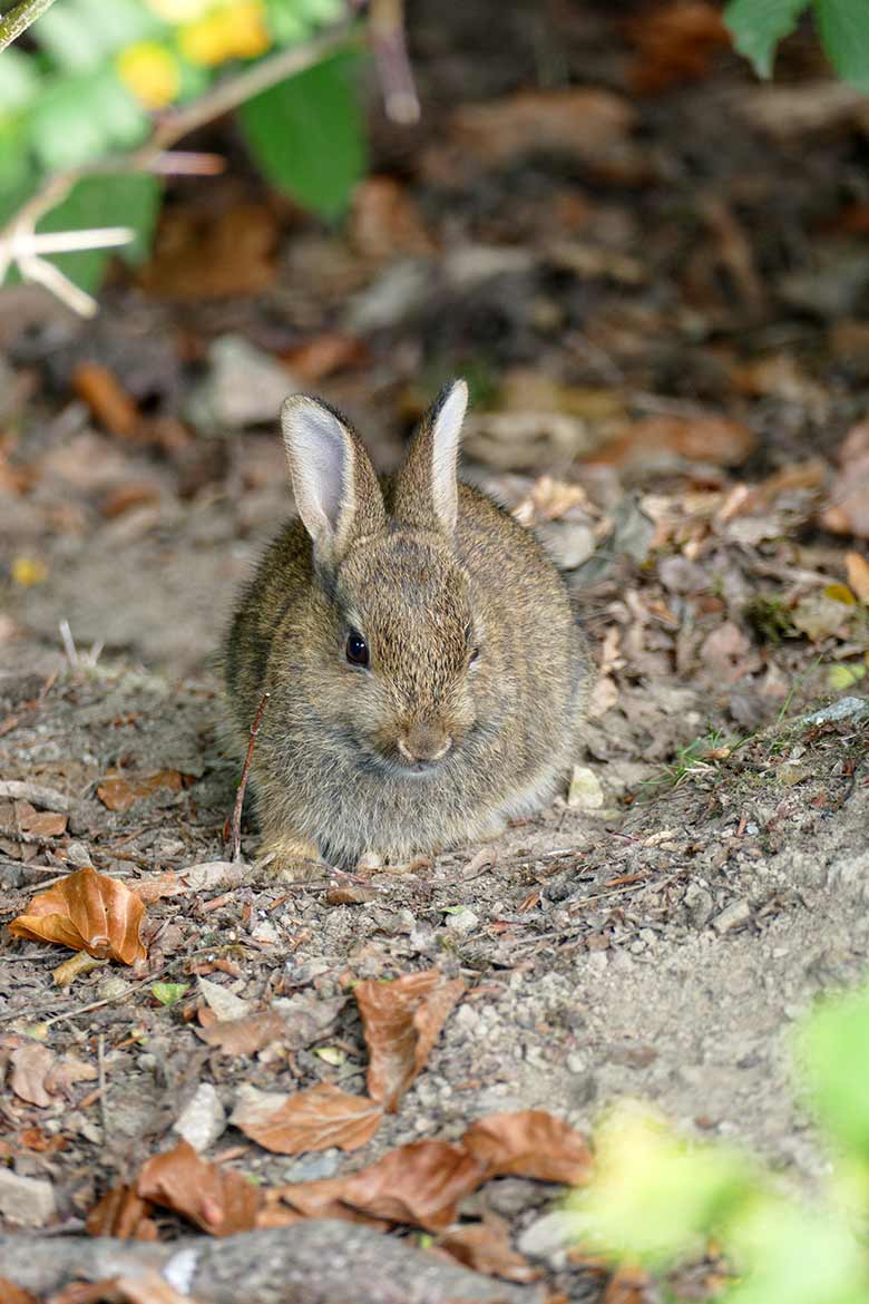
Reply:
M459 1201L485 1179L483 1164L463 1146L416 1141L349 1178L281 1187L280 1198L310 1218L347 1217L349 1206L387 1222L443 1231L455 1222Z

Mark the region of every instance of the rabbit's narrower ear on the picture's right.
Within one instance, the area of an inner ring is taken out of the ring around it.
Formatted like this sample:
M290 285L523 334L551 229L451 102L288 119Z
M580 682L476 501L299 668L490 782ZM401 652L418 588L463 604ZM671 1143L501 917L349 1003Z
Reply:
M452 381L422 419L395 481L393 511L405 524L434 526L446 535L456 528L456 464L466 409L468 385Z

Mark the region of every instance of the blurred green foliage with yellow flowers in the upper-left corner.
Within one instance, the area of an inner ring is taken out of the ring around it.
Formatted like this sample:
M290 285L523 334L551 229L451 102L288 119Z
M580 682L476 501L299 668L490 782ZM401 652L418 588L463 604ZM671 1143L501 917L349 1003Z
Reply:
M292 48L347 13L344 0L56 0L27 44L0 52L0 226L52 173L89 168L142 145L154 115L220 78ZM366 163L356 96L358 55L331 57L242 106L242 134L280 190L339 215ZM40 231L121 224L122 257L146 257L159 184L142 175L89 176ZM93 292L109 253L52 256Z

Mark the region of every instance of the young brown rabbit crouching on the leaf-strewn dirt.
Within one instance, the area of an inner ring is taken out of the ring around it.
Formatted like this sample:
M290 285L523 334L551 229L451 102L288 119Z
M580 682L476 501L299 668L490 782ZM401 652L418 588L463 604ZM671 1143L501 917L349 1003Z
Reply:
M537 540L459 484L468 386L447 386L379 482L348 422L301 394L281 424L298 507L225 647L278 871L401 861L502 832L554 794L588 694L585 640Z

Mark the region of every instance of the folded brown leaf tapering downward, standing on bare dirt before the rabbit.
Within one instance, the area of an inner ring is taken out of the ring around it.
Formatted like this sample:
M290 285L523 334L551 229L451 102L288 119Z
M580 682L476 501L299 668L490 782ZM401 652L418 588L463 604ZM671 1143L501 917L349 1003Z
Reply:
M404 974L393 982L358 982L353 995L369 1047L367 1089L388 1114L425 1067L449 1012L465 990L461 978L439 969Z

